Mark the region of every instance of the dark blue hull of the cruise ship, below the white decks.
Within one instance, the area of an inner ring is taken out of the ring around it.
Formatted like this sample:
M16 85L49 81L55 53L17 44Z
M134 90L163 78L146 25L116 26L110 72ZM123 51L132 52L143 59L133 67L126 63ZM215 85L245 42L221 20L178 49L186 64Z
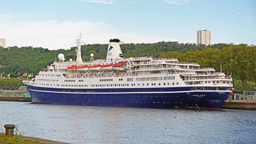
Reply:
M85 106L220 109L228 91L191 91L190 87L59 89L26 85L32 102Z

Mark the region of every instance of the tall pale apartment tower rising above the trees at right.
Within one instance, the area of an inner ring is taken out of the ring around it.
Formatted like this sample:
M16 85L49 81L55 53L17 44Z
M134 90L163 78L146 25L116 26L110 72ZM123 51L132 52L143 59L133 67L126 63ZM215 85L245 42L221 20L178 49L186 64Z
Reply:
M197 45L199 44L203 44L203 45L211 45L211 40L212 40L212 36L211 36L211 32L207 31L207 30L200 30L197 31Z

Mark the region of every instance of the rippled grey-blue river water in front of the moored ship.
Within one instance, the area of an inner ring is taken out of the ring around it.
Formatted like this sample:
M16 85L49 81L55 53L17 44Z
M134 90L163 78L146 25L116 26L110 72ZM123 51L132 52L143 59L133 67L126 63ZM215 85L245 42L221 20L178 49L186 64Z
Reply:
M75 144L256 143L256 111L147 109L0 102L3 125Z

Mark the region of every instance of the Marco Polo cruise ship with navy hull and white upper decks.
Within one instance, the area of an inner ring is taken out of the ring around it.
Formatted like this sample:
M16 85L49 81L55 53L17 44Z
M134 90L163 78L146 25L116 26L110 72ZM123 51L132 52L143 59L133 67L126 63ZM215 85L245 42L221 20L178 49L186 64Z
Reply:
M105 60L58 61L23 83L33 103L149 108L220 109L232 78L214 68L176 58L124 58L119 39L110 39Z

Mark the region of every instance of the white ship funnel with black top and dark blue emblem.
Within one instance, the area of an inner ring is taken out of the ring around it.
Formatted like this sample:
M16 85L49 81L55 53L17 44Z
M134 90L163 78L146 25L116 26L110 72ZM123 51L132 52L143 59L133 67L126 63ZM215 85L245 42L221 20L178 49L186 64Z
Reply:
M110 39L108 44L108 52L106 60L114 60L119 58L124 58L123 53L121 51L120 40L118 38Z

